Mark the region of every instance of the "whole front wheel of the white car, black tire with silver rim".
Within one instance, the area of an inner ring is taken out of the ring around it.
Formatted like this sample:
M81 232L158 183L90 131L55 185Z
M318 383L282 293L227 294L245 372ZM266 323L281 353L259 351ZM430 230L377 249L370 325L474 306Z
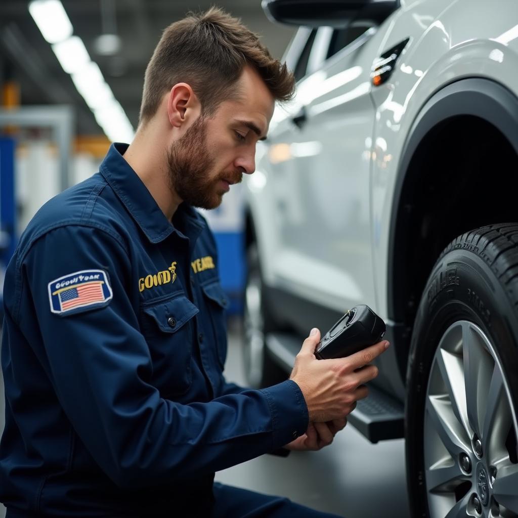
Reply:
M518 225L458 237L436 263L410 348L411 516L518 516Z

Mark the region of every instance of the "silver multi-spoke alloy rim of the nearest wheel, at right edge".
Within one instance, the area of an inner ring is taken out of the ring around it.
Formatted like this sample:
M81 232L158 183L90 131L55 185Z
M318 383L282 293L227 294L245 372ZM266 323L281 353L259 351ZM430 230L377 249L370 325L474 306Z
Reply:
M431 518L518 516L518 464L510 455L516 415L499 359L480 327L463 320L444 333L425 406Z

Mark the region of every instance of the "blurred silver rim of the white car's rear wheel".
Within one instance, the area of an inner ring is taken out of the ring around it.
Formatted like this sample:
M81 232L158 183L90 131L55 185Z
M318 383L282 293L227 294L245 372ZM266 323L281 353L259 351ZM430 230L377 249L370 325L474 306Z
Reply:
M258 271L250 271L244 296L244 364L248 382L258 387L262 379L264 356L262 282Z

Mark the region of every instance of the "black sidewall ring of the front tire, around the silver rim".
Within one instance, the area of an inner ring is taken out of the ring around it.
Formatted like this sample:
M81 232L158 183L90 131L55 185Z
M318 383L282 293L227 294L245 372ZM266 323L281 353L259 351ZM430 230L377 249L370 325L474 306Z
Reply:
M459 320L478 325L493 344L513 398L518 395L516 310L490 266L461 242L437 262L426 284L407 372L406 458L411 515L429 516L424 466L425 397L431 365L445 331Z

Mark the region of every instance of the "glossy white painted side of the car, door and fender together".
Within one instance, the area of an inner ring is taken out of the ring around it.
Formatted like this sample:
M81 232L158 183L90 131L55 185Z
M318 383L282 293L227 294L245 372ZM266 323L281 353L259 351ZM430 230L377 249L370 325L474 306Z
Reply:
M293 102L276 108L247 179L265 285L333 312L358 303L375 309L395 346L378 359L376 382L400 399L405 365L389 280L401 155L427 100L450 83L490 78L518 96L518 4L501 0L498 9L506 16L484 0L402 0L361 45L320 67L312 53L315 71L298 82ZM310 33L302 31L299 40ZM407 38L390 78L373 87L373 62ZM303 106L299 130L291 119Z

